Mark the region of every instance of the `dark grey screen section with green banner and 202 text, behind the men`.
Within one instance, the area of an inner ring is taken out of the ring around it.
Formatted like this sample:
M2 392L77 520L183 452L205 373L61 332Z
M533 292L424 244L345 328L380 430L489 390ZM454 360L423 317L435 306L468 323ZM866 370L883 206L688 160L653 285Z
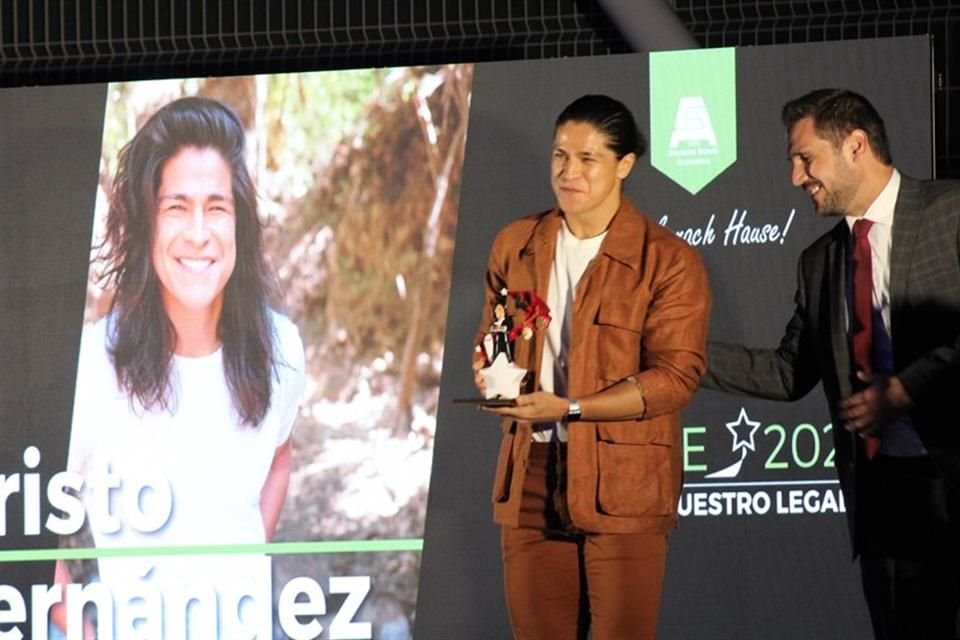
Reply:
M901 171L931 173L925 37L479 65L471 104L418 638L506 638L490 495L497 421L475 395L471 341L497 229L549 208L554 119L585 93L627 104L651 149L626 185L650 217L700 251L710 336L775 346L793 309L800 251L835 224L790 184L783 103L820 87L866 95ZM863 638L858 571L818 388L778 404L700 391L684 412L685 490L658 637Z

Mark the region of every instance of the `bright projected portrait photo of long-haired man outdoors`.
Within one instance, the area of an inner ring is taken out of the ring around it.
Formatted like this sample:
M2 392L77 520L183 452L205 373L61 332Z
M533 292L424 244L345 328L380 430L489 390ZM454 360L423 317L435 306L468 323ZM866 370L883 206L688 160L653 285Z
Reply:
M111 85L52 634L409 636L471 75Z

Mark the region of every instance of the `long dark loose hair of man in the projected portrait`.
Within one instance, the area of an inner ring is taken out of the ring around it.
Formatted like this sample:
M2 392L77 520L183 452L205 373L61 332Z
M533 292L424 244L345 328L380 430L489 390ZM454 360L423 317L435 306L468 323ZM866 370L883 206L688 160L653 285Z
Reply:
M277 362L270 306L276 286L263 256L244 144L243 124L233 111L214 100L183 98L157 111L120 151L107 213L104 277L116 290L109 353L132 404L176 407L171 381L176 331L160 298L152 244L164 165L181 149L196 147L218 151L233 179L237 260L217 328L224 377L243 424L259 425L270 406Z

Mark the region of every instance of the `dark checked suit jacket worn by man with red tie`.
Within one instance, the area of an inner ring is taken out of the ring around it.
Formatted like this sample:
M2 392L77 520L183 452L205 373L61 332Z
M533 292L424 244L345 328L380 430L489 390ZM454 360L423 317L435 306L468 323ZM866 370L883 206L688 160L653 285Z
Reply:
M853 391L845 314L849 229L841 220L800 256L796 309L776 349L711 342L704 387L796 400L823 382L836 465L857 551L858 439L838 404ZM914 401L911 417L930 457L960 491L960 182L901 177L890 252L894 370ZM862 485L863 483L861 483Z

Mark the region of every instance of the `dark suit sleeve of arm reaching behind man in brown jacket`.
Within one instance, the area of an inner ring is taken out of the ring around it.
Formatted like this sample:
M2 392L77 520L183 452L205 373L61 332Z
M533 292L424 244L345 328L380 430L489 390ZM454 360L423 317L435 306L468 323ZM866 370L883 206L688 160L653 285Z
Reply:
M813 329L810 326L807 286L811 268L806 254L797 270L793 316L776 349L755 349L727 342L707 343L707 373L701 385L729 393L797 400L816 386L820 372L816 363Z

